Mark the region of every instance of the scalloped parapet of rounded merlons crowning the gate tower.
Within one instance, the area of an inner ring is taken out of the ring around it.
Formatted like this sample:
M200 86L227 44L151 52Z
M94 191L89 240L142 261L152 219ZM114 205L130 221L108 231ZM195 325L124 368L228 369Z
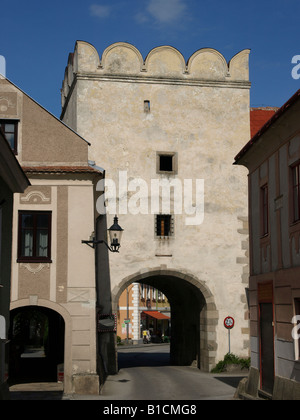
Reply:
M186 62L176 48L166 45L152 49L144 59L133 45L118 42L106 48L100 58L93 45L77 41L65 70L62 106L75 76L134 78L141 82L156 79L164 83L236 83L249 87L249 53L245 49L227 63L217 50L202 48Z

